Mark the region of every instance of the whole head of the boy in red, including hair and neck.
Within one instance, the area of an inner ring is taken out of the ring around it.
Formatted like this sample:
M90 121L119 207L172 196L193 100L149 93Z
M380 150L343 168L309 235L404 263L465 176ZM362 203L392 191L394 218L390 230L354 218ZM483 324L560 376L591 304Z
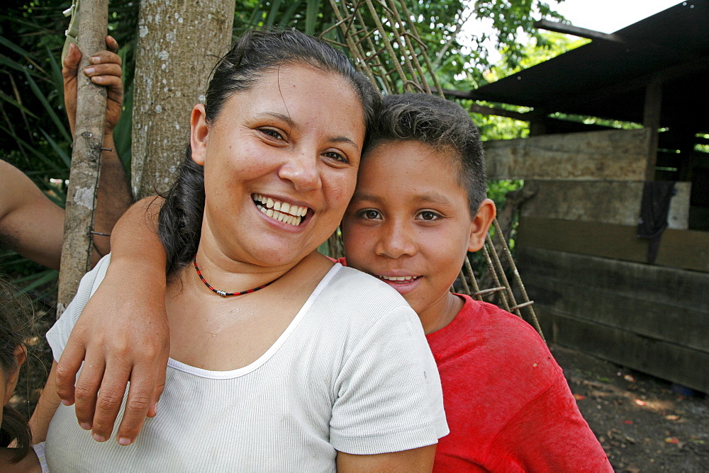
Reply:
M462 307L450 286L495 216L479 133L423 93L385 97L371 133L342 222L347 263L398 290L430 333Z

